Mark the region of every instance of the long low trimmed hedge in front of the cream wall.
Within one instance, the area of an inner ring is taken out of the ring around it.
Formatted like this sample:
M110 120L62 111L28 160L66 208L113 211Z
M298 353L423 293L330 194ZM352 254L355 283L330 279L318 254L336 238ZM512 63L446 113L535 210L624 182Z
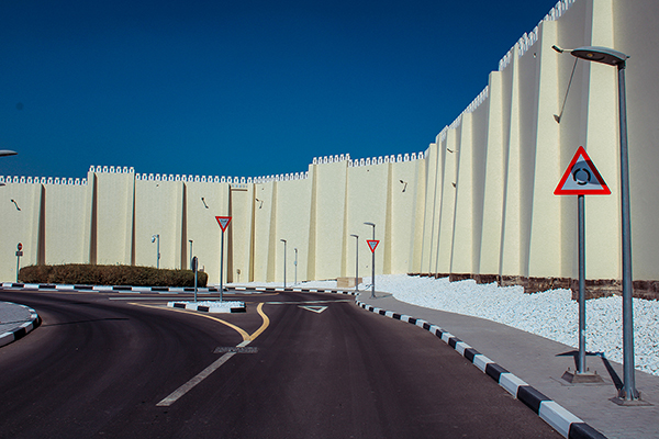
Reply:
M19 280L24 283L72 285L194 286L194 272L153 267L68 263L23 267ZM205 286L208 280L206 273L198 272L199 286Z

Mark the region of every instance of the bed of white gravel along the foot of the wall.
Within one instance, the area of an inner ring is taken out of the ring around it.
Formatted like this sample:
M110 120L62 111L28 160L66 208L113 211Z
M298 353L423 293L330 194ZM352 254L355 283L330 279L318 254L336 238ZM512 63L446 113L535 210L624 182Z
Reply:
M367 284L370 284L370 278L364 278L360 290L365 290ZM282 286L281 283L269 285ZM336 288L336 281L305 282L295 286ZM574 348L579 347L579 304L571 300L570 290L524 294L522 286L477 284L473 280L449 282L448 278L433 279L406 274L378 275L376 289L392 293L401 302L487 318ZM659 376L659 301L634 299L633 302L635 367ZM585 320L587 350L603 352L607 359L622 363L622 297L587 301Z

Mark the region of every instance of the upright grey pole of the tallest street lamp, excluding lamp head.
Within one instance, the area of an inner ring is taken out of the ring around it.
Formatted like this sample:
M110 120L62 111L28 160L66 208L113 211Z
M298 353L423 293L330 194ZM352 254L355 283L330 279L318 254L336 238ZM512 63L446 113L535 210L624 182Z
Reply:
M634 308L632 296L632 221L629 209L629 161L627 159L627 98L625 92L625 63L618 64L618 105L621 132L621 201L623 237L623 368L624 386L621 398L638 399L634 371Z

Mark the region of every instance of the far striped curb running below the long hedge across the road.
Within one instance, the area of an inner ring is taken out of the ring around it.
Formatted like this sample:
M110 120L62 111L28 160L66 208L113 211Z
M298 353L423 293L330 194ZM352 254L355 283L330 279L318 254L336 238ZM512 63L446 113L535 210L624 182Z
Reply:
M193 293L194 288L192 286L131 286L131 285L66 285L55 283L16 283L16 282L3 282L0 286L12 290L55 290L55 291L68 291L68 292L80 292L80 291L98 291L102 293ZM302 289L302 288L271 288L271 286L225 286L225 293L232 292L287 292L287 293L335 293L335 294L348 294L356 295L354 290L335 290L335 289ZM197 289L199 294L211 294L219 293L220 289L215 286L199 288Z

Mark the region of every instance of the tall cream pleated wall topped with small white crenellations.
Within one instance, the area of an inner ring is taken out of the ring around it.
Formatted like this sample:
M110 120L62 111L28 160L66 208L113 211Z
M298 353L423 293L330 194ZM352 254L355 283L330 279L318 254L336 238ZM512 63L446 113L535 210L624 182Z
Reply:
M559 2L489 77L488 87L429 144L421 159L314 159L309 171L247 181L136 178L93 168L87 185L16 181L0 188L4 239L0 275L15 277L15 244L25 262L87 261L188 267L189 239L211 283L220 278L216 215L232 215L225 281L282 281L370 273L366 239L377 225L378 273L422 272L526 278L577 275L577 200L554 190L584 146L612 190L587 196L587 275L618 279L619 157L617 78L610 66L558 54L601 45L632 55L627 98L635 279L659 280L659 32L654 2ZM565 102L560 123L555 120ZM230 179L231 180L231 179ZM404 183L405 191L403 192ZM455 185L454 185L455 184ZM9 201L21 204L16 211ZM202 202L201 199L204 199ZM205 203L205 205L204 205ZM7 207L8 206L8 207ZM13 209L13 210L12 210ZM79 214L78 214L79 212ZM13 271L12 271L13 270Z

